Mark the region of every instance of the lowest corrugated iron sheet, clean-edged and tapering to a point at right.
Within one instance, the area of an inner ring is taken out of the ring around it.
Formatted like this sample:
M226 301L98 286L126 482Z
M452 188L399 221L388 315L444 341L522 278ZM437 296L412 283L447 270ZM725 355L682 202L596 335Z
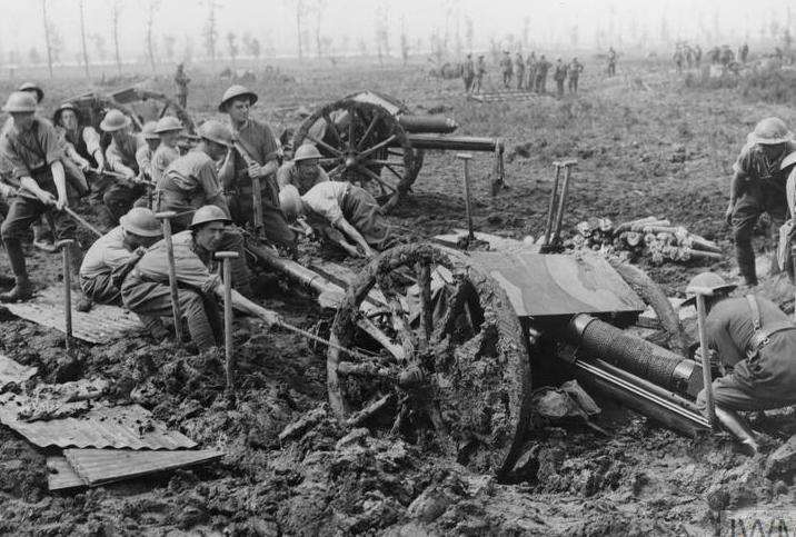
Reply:
M222 451L129 451L121 449L64 449L63 456L89 486L133 479L150 474L201 465L223 457Z

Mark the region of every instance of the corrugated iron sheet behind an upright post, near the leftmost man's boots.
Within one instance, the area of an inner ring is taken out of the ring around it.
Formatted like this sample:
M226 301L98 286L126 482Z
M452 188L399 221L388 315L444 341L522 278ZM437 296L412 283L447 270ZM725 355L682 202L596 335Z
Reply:
M137 335L143 329L138 316L116 306L94 305L91 311L74 309L80 296L72 294L72 335L90 344L107 344ZM27 302L3 305L17 317L66 334L63 289L48 287Z

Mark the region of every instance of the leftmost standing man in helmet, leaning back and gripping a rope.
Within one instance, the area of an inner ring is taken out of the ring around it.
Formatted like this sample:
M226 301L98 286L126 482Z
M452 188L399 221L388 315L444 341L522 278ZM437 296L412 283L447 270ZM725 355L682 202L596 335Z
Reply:
M74 223L61 210L69 207L62 163L66 157L54 127L34 115L36 99L23 91L11 93L3 111L11 115L11 123L0 138L0 153L13 167L12 177L20 186L20 192L11 201L8 216L0 226L16 281L13 289L0 294L0 301L10 302L27 300L33 292L22 251L22 238L28 228L53 207L57 210L52 215L57 240L73 238ZM77 243L71 253L71 269L77 276L82 259Z

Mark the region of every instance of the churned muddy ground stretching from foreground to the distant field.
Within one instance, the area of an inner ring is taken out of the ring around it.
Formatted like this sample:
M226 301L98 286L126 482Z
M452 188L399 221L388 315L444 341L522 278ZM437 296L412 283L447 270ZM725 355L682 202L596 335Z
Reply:
M796 125L796 112L739 88L687 88L665 66L620 64L613 79L600 70L586 63L575 99L490 105L468 102L459 81L429 79L421 66L286 70L293 81L267 80L255 89L257 113L278 127L296 125L280 107L312 107L370 88L399 96L417 111L454 117L461 135L504 138L510 189L491 198L491 159L475 160L480 230L538 236L550 163L575 157L565 229L593 216L666 217L717 240L728 260L713 268L732 270L722 215L733 160L759 118L777 115ZM213 116L225 83L199 69L190 76L192 111ZM6 81L3 89L16 83ZM86 89L74 80L46 86L47 109ZM167 78L152 87L171 91ZM462 227L460 191L454 155L430 151L412 195L392 218L421 236ZM31 256L39 285L57 279L57 256ZM704 269L666 265L650 274L674 295ZM272 288L262 302L306 328L322 315L309 297L285 288ZM685 438L608 400L598 400L604 412L596 420L608 437L578 424L540 429L528 438L518 483L506 485L432 450L368 429L344 430L328 416L280 444L285 426L326 410L325 358L286 332L238 325L241 389L230 405L216 355L191 356L141 338L81 345L77 359L66 360L59 332L8 315L0 319L0 351L39 367L41 381L105 377L111 401L138 401L202 447L227 453L212 467L50 495L46 454L0 428L0 533L705 535L724 509L796 504L793 474L768 468L767 453L748 458L725 435ZM767 451L796 432L794 409L752 420L769 437Z

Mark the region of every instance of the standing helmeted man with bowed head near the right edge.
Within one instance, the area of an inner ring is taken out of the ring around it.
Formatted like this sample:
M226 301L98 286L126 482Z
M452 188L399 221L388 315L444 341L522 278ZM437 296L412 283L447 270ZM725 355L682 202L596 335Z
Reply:
M752 232L758 218L763 212L769 216L776 243L779 226L787 216L787 173L780 165L785 157L796 151L793 138L782 119L763 119L747 136L746 145L733 166L735 173L725 219L733 226L738 270L749 287L757 285Z

